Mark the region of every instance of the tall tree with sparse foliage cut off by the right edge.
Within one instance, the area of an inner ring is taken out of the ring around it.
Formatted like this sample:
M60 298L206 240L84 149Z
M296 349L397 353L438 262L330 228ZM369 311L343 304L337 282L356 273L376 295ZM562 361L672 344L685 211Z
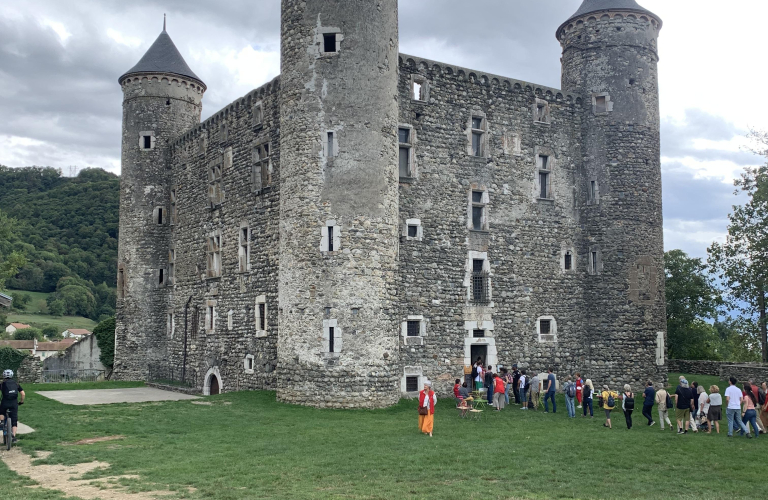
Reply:
M752 132L751 137L762 145L755 152L768 156L768 134ZM726 240L707 249L708 262L735 307L755 320L762 360L768 362L768 166L746 168L734 185L747 202L734 205Z

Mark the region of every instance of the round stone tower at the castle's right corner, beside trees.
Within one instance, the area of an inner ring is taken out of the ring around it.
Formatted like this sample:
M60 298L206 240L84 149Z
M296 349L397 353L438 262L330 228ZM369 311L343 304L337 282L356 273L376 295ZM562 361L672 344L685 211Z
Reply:
M666 379L661 24L635 0L585 0L557 30L563 90L583 102L584 371L615 384Z

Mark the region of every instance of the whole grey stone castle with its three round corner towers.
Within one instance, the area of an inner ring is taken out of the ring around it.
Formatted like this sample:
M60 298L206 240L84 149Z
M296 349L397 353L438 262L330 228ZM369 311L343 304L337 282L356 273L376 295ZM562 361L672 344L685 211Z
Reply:
M281 75L201 123L165 29L122 75L115 375L376 408L477 357L666 379L657 38L556 32L562 90L401 54L397 0L282 0Z

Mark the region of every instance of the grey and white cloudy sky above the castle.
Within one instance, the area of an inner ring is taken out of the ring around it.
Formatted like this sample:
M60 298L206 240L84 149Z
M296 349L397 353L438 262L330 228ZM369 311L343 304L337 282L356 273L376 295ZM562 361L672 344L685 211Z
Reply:
M560 86L555 30L581 0L400 0L408 54ZM723 238L744 151L768 130L765 0L640 0L659 42L667 249ZM162 29L208 85L203 118L279 72L279 0L0 0L0 164L120 170L117 78Z

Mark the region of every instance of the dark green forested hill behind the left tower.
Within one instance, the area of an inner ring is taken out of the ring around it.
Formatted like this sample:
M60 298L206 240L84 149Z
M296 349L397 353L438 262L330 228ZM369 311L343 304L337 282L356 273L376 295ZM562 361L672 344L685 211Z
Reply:
M0 166L0 211L17 221L0 254L23 250L27 259L7 286L53 292L60 278L76 275L114 287L119 188L101 169L71 178L50 167Z

